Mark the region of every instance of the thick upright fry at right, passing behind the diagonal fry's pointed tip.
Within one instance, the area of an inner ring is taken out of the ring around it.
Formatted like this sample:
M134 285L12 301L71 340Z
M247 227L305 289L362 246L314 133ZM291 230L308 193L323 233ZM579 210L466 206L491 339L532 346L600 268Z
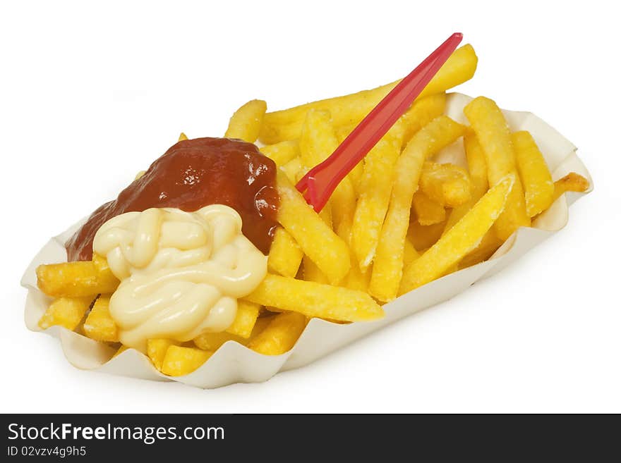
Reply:
M466 105L464 114L470 121L486 156L490 187L496 185L507 174L513 173L517 176L509 126L495 102L486 97L475 98ZM507 207L498 218L495 230L498 237L504 241L521 226L531 226L531 218L526 214L524 189L519 178L516 178Z

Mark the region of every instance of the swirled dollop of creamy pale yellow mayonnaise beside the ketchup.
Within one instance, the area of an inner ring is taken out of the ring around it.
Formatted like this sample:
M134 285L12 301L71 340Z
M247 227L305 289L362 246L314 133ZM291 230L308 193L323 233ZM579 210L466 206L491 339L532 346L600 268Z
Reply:
M221 204L121 214L97 230L92 247L121 280L110 300L119 338L143 351L150 338L184 342L226 330L237 299L267 273L239 214Z

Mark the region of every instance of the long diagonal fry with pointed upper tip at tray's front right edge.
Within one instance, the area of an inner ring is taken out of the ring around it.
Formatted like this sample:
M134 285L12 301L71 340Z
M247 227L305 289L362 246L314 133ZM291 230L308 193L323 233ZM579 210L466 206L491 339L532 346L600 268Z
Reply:
M399 292L414 290L442 276L474 249L502 214L516 182L516 175L511 173L490 188L453 228L405 269Z

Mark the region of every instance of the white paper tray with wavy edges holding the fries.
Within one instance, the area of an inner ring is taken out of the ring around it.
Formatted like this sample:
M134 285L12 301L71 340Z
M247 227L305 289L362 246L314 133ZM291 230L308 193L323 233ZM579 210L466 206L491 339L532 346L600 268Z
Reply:
M463 94L450 94L447 99L447 115L455 121L467 124L468 121L462 110L470 100L471 97ZM503 112L512 131L529 130L531 132L548 162L550 171L553 173L553 180L574 171L589 180L589 191L593 189L593 180L578 158L577 149L571 142L532 113L505 110ZM440 152L436 159L466 166L461 140ZM68 331L66 328L52 326L44 333L59 338L68 361L80 369L155 381L179 381L199 388L218 388L232 383L266 381L279 371L309 364L382 326L449 300L476 281L502 270L526 251L565 227L568 219L568 205L581 195L584 193L569 192L557 199L548 211L533 222L533 228L519 228L488 261L451 273L386 304L384 319L348 325L312 319L294 348L282 355L270 357L258 354L237 342L229 341L196 371L186 376L171 378L159 373L149 359L138 351L126 350L111 359L114 354L111 347ZM21 284L28 289L25 323L32 331L42 331L37 322L51 302L50 298L37 288L35 269L40 264L66 261L64 242L83 221L49 240L47 245L32 259L24 273Z

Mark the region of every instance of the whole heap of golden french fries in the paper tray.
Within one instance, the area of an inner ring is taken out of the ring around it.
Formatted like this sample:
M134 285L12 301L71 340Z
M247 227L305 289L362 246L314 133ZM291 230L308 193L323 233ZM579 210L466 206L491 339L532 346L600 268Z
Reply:
M294 184L325 161L398 81L282 111L267 113L262 100L235 111L225 137L259 139L265 144L260 152L277 165L279 226L270 231L267 276L250 294L251 288L240 293L248 295L237 300L235 319L224 331L193 331L186 342L143 342L155 368L168 376L190 374L228 341L259 354L284 354L315 317L380 319L380 304L486 261L563 193L585 191L589 182L577 173L553 183L531 134L511 133L493 100L478 97L466 105L469 127L444 115L446 90L469 80L476 65L470 45L454 51L319 214ZM460 137L467 169L430 160ZM222 259L229 257L223 253ZM109 311L119 280L107 259L94 254L92 261L42 265L36 273L40 290L54 298L41 328L64 326L104 343L123 338ZM115 356L127 348L121 345Z

